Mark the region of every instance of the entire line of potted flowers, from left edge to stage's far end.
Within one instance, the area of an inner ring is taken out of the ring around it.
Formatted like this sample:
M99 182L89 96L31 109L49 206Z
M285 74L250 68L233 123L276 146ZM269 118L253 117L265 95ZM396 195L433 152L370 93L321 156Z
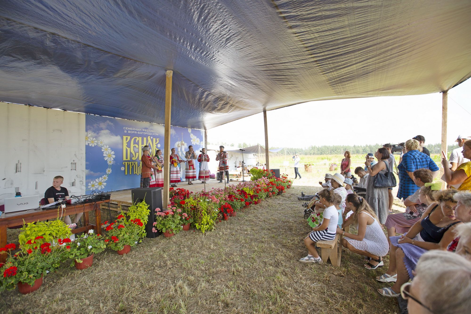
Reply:
M291 187L286 175L275 178L270 172L257 180L192 193L185 189L171 189L171 205L167 210L155 209L154 232L162 231L170 237L191 226L203 233L212 230L216 223L235 216L236 211L260 203L263 198L285 192ZM42 284L46 273L57 270L61 263L71 260L71 266L85 269L93 263L95 254L111 248L118 254L127 254L130 248L146 235L145 224L149 215L145 201L133 204L128 213L121 213L112 223L102 223L104 235L89 230L71 240L71 231L61 220L28 223L16 244L0 248L0 254L8 254L7 262L0 264L0 292L17 286L21 293L30 293Z

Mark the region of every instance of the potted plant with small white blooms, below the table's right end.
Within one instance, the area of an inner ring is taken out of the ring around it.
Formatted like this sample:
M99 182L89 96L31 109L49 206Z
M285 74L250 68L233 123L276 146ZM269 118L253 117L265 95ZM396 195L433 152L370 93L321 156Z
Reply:
M68 239L62 240L62 243ZM69 242L69 241L67 241ZM82 235L80 238L70 241L68 244L70 249L67 251L67 257L73 260L72 265L77 269L85 269L92 265L93 256L96 253L103 252L106 248L105 240L99 234L94 234L93 229L88 234Z

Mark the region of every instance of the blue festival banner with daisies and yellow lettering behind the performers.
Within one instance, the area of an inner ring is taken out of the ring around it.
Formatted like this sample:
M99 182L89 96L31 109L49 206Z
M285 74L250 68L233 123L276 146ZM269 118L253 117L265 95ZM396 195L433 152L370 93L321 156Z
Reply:
M85 118L85 181L90 191L115 191L138 188L141 174L142 147L151 147L151 154L162 149L164 162L171 152L163 151L164 125L86 115ZM183 160L189 145L196 156L204 148L204 131L171 127L171 148ZM195 160L196 176L199 164ZM164 174L168 175L168 174ZM185 163L180 164L185 181Z

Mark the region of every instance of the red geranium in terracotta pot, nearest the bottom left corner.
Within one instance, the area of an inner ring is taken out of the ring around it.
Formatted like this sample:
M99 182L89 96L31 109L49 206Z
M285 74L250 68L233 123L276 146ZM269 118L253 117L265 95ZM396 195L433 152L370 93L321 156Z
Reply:
M8 254L6 263L0 267L0 273L3 275L0 277L0 292L15 289L16 286L22 294L39 289L43 275L56 270L65 258L67 246L53 246L44 241L42 236L28 242L32 248L20 246L21 250L14 255L11 254L16 249L14 243L0 248L0 254Z

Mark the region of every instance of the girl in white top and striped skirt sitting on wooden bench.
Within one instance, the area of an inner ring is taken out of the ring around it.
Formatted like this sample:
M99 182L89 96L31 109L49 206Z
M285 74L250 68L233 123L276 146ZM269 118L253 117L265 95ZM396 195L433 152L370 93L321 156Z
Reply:
M319 257L316 251L316 242L335 239L339 212L333 204L334 192L333 190L324 189L319 192L319 197L319 202L326 207L324 210L324 218L322 222L316 228L312 228L312 232L304 238L304 244L306 248L308 248L308 256L299 260L302 263L322 263L322 258Z

